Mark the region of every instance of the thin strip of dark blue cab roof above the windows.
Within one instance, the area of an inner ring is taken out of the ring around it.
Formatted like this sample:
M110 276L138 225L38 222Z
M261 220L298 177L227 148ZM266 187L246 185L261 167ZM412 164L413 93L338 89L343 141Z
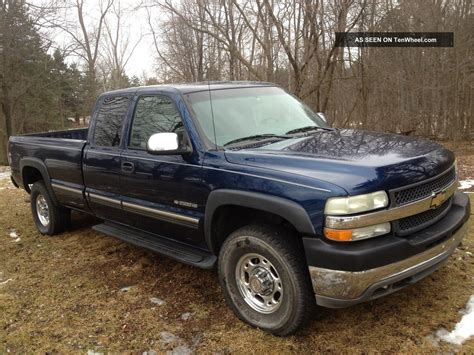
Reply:
M262 81L211 81L211 82L203 81L203 82L197 82L197 83L163 84L163 85L131 87L131 88L126 88L126 89L108 91L108 92L103 93L102 95L134 94L136 92L153 92L153 91L188 94L191 92L208 91L209 88L211 90L225 90L225 89L259 87L259 86L275 86L275 84L262 82Z

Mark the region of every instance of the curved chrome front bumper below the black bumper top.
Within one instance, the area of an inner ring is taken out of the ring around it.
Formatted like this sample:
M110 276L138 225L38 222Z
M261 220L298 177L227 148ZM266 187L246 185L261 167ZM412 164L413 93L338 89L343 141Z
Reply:
M341 271L310 266L316 302L341 308L395 292L431 274L454 252L467 234L464 223L449 239L422 253L364 271Z

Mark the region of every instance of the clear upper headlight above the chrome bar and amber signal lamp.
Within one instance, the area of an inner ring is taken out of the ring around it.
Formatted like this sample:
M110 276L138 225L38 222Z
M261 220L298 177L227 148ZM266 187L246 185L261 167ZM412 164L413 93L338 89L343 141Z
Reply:
M388 196L385 191L372 192L365 195L349 197L331 197L326 202L326 215L340 216L359 212L367 212L388 206Z

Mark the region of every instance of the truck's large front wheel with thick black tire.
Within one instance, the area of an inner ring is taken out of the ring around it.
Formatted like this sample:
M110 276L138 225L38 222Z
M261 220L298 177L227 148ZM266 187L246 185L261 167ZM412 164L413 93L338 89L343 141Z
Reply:
M249 274L246 270L249 263L246 263L246 260L254 255L259 255L263 259L258 262L259 258L251 259L253 269ZM257 270L259 265L263 270L270 265L271 272L266 274L264 271L263 283L260 282L262 279L257 277L258 281L255 284L252 282L255 281L255 275L259 274ZM236 230L222 245L218 269L219 281L227 304L237 317L253 327L278 336L290 335L301 328L315 310L316 301L303 246L298 236L283 228L249 225ZM240 279L238 275L241 276ZM268 281L269 279L272 281ZM267 293L270 289L273 290L270 293L275 292L275 288L280 286L282 292L279 297L277 297L278 291L270 296L265 295L266 301L260 294L247 299L244 297L244 293L247 292L245 288L249 293L255 292L253 286L257 286L258 289L262 284L267 285L265 290ZM270 301L268 297L271 297ZM261 301L262 304L259 305ZM268 313L267 305L278 308ZM256 307L261 307L264 312Z

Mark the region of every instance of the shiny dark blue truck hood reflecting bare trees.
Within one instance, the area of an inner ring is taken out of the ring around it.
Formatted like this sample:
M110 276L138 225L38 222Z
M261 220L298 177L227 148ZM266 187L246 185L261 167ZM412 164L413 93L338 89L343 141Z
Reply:
M323 180L351 195L410 185L454 163L452 152L428 140L348 129L228 150L225 155L232 164Z

